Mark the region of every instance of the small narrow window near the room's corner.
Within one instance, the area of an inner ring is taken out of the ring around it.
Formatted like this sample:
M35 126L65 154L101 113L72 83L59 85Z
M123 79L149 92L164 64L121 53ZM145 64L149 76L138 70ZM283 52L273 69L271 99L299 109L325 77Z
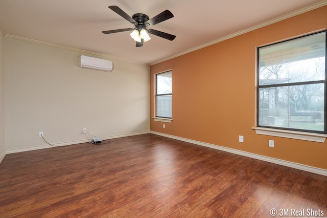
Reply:
M172 118L172 71L156 74L156 117Z

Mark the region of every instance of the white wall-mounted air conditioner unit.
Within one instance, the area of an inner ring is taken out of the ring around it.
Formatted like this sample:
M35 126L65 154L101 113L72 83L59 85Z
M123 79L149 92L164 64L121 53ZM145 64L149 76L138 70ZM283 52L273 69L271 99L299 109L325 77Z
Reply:
M81 55L80 68L111 72L113 70L113 63L110 60Z

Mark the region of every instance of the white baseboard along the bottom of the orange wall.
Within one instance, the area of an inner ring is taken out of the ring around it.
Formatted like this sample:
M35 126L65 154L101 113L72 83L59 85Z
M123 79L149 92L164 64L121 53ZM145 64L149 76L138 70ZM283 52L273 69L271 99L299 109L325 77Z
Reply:
M249 157L249 158L253 158L253 159L258 159L258 160L262 160L262 161L266 161L266 162L270 162L270 163L275 163L275 164L279 164L279 165L283 165L283 166L287 166L287 167L291 167L291 168L295 168L295 169L313 172L313 173L316 173L316 174L319 174L322 176L327 176L326 169L321 169L321 168L308 166L308 165L304 165L304 164L299 164L299 163L294 163L294 162L285 161L285 160L281 160L281 159L271 158L271 157L267 157L267 156L256 155L256 154L253 154L253 153L250 153L247 151L237 150L237 149L233 149L233 148L227 148L227 147L223 147L223 146L219 146L219 145L209 144L209 143L200 142L200 141L196 141L196 140L192 140L192 139L186 139L186 138L168 135L168 134L164 134L164 133L159 133L159 132L154 132L154 131L150 131L150 133L159 135L159 136L164 136L164 137L171 138L171 139L176 139L176 140L183 141L183 142L189 142L189 143L196 144L196 145L201 145L201 146L205 146L205 147L209 147L209 148L214 148L217 150L230 152L232 154L237 154L237 155L241 155L241 156L245 156L245 157Z

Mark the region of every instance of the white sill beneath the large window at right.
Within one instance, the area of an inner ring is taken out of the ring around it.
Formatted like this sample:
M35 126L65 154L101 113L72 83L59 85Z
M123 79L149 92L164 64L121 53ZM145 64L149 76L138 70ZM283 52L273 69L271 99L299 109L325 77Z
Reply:
M252 127L255 129L255 133L259 135L267 136L277 136L289 139L299 139L312 142L321 142L324 143L327 135L317 134L317 133L306 133L306 132L297 132L291 130L282 130L282 129L273 129L273 128L263 128L263 127Z

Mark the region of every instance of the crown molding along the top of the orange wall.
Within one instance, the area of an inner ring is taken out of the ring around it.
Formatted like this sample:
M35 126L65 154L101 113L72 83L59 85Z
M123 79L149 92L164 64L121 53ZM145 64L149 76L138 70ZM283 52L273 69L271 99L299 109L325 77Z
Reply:
M274 19L271 19L271 20L268 20L264 23L261 23L259 25L255 25L253 27L250 27L250 28L247 28L247 29L244 29L244 30L241 30L241 31L238 31L236 33L232 33L232 34L229 34L227 36L224 36L222 38L219 38L219 39L216 39L214 41L211 41L211 42L207 42L201 46L198 46L198 47L195 47L195 48L192 48L192 49L189 49L189 50L186 50L182 53L179 53L177 55L174 55L174 56L171 56L171 57L168 57L168 58L165 58L165 59L162 59L160 61L157 61L157 62L154 62L154 63L151 63L150 66L154 65L154 64L157 64L157 63L161 63L161 62L164 62L166 60L170 60L172 58L175 58L175 57L178 57L178 56L181 56L181 55L184 55L184 54L188 54L188 53L191 53L191 52L194 52L196 50L199 50L199 49L202 49L202 48L205 48L205 47L208 47L208 46L211 46L211 45L214 45L218 42L221 42L221 41L224 41L224 40L227 40L227 39L230 39L230 38L233 38L233 37L236 37L236 36L239 36L239 35L242 35L244 33L248 33L248 32L251 32L253 30L256 30L256 29L260 29L262 27L266 27L266 26L269 26L271 24L274 24L274 23L277 23L279 21L282 21L282 20L285 20L285 19L288 19L290 17L293 17L293 16L296 16L296 15L299 15L299 14L302 14L302 13L305 13L305 12L308 12L308 11L312 11L314 9L317 9L317 8L320 8L320 7L323 7L327 5L327 0L325 1L322 1L320 3L317 3L317 4L314 4L314 5L311 5L311 6L308 6L306 8L302 8L302 9L299 9L297 11L294 11L294 12L291 12L291 13L288 13L288 14L285 14L283 16L279 16L277 18L274 18Z

